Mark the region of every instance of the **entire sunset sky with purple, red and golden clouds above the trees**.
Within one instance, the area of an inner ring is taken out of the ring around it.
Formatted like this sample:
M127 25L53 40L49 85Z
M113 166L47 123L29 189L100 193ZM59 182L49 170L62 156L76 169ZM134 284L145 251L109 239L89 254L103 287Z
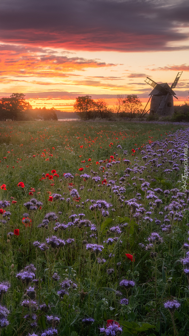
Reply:
M1 0L0 97L73 111L75 98L137 94L157 83L189 98L188 0Z

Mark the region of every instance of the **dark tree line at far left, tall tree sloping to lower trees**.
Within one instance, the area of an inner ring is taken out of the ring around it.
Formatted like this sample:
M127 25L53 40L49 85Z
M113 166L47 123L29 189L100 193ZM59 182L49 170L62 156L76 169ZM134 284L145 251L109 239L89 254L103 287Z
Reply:
M10 97L0 99L0 120L58 120L58 118L54 108L32 109L23 93L12 93Z

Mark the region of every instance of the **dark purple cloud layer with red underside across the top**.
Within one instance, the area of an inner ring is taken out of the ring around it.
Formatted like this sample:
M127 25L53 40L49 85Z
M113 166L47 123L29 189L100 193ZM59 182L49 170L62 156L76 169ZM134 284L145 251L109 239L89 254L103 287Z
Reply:
M187 49L188 0L6 0L0 39L70 50ZM180 29L184 30L180 30ZM180 47L168 45L179 41ZM184 46L185 45L185 46Z

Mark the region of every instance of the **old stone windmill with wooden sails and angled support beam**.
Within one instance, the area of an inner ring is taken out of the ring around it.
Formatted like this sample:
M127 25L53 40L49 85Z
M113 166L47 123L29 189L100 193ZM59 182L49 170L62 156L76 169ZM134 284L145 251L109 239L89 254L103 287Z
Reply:
M150 92L149 94L150 98L147 102L148 104L151 99L150 109L148 110L150 111L150 114L157 114L159 116L170 116L174 113L173 97L175 97L176 99L178 98L176 97L176 93L172 89L176 87L181 75L182 71L178 72L177 77L175 78L171 87L168 85L168 83L157 84L149 77L146 78L145 82L153 87L152 92ZM143 112L145 111L147 104Z

